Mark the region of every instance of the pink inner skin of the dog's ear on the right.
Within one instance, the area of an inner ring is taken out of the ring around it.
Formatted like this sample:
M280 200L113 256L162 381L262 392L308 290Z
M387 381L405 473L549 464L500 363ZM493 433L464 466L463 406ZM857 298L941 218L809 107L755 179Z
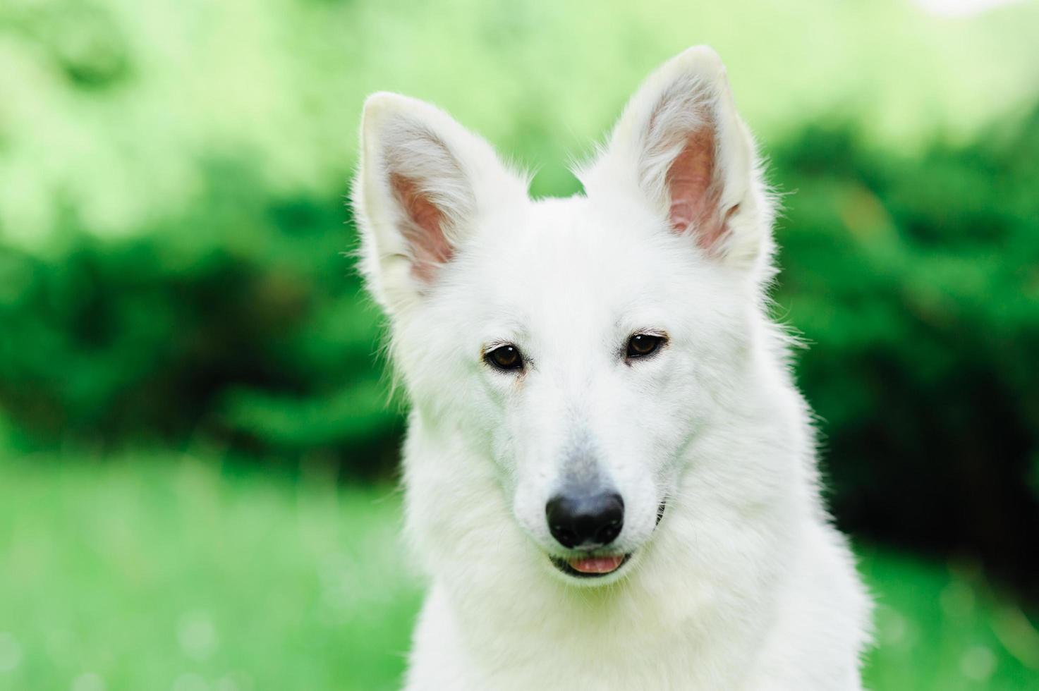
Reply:
M701 247L710 249L725 232L719 204L721 185L715 170L714 129L691 132L671 167L667 190L671 197L670 220L676 233L690 229Z

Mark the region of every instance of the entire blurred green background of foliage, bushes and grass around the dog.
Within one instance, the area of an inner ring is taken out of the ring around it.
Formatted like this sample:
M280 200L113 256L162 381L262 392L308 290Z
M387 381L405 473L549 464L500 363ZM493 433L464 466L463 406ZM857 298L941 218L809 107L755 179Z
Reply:
M344 202L366 94L437 103L535 194L683 48L783 193L875 689L1039 688L1039 5L0 3L0 689L389 689L379 317Z

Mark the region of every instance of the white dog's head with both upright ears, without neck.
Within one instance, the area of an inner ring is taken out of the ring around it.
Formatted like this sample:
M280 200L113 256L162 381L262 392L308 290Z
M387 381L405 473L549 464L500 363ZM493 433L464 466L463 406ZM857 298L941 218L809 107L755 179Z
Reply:
M768 273L720 61L692 49L647 79L568 200L529 200L421 102L371 97L362 132L364 269L415 404L494 464L547 563L618 578L724 415Z

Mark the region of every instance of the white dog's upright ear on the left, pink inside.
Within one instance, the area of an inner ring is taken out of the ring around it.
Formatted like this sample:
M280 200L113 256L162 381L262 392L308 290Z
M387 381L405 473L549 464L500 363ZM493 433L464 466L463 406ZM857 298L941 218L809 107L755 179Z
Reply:
M527 198L527 183L442 110L380 92L365 102L351 197L368 288L396 315L433 287L481 218Z

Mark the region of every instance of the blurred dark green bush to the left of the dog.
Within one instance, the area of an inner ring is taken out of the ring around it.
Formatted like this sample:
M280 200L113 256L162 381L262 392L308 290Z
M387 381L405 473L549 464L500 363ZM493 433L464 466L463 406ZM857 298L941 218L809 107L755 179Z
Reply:
M46 259L0 254L0 403L23 443L218 441L384 469L399 432L342 198L206 166L190 214ZM389 446L388 446L389 445Z

